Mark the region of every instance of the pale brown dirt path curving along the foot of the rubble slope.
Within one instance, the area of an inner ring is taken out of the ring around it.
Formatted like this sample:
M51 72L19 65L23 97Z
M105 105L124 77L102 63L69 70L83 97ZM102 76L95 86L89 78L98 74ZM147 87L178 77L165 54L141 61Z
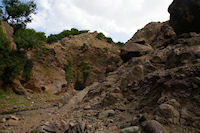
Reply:
M1 132L15 132L15 133L24 133L31 132L35 127L51 122L53 120L59 119L62 116L66 115L70 110L76 107L76 105L82 101L84 96L88 93L88 88L85 88L83 91L77 92L68 102L62 106L49 106L46 109L23 111L15 113L15 116L20 120L15 121L6 121L3 124L0 124L0 133ZM41 104L40 107L44 105Z

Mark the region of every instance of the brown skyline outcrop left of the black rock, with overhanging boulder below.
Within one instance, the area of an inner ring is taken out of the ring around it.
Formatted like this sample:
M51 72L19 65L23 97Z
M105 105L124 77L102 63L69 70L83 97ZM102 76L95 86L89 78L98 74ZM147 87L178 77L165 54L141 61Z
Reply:
M120 56L124 62L132 57L140 57L151 53L159 47L166 47L176 39L176 33L169 22L151 22L135 35L121 49Z

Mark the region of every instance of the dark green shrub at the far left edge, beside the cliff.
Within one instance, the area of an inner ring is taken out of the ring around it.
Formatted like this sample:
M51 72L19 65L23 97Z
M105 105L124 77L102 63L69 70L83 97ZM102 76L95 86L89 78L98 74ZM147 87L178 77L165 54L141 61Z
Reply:
M8 84L20 74L25 53L23 51L10 51L9 40L3 33L1 23L0 51L0 80L4 84Z

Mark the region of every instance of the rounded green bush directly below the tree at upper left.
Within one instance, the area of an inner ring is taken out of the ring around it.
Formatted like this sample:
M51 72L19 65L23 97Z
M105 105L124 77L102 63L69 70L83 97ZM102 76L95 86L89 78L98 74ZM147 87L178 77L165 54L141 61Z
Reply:
M46 41L46 36L43 32L36 32L33 29L21 29L15 33L14 41L18 49L32 49L40 47Z

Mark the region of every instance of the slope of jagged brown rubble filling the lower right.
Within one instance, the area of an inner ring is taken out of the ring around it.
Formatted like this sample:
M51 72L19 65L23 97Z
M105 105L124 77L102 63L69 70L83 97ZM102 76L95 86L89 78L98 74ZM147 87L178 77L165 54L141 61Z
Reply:
M161 31L172 30L169 27L164 26ZM187 33L174 38L173 33L167 38L173 41L168 43L162 43L165 40L158 37L145 41L160 44L152 52L133 56L101 82L88 86L83 101L64 119L86 122L85 126L90 128L85 128L85 132L117 132L133 126L140 126L146 133L198 132L200 34ZM98 114L106 110L113 110L115 115L99 121Z

